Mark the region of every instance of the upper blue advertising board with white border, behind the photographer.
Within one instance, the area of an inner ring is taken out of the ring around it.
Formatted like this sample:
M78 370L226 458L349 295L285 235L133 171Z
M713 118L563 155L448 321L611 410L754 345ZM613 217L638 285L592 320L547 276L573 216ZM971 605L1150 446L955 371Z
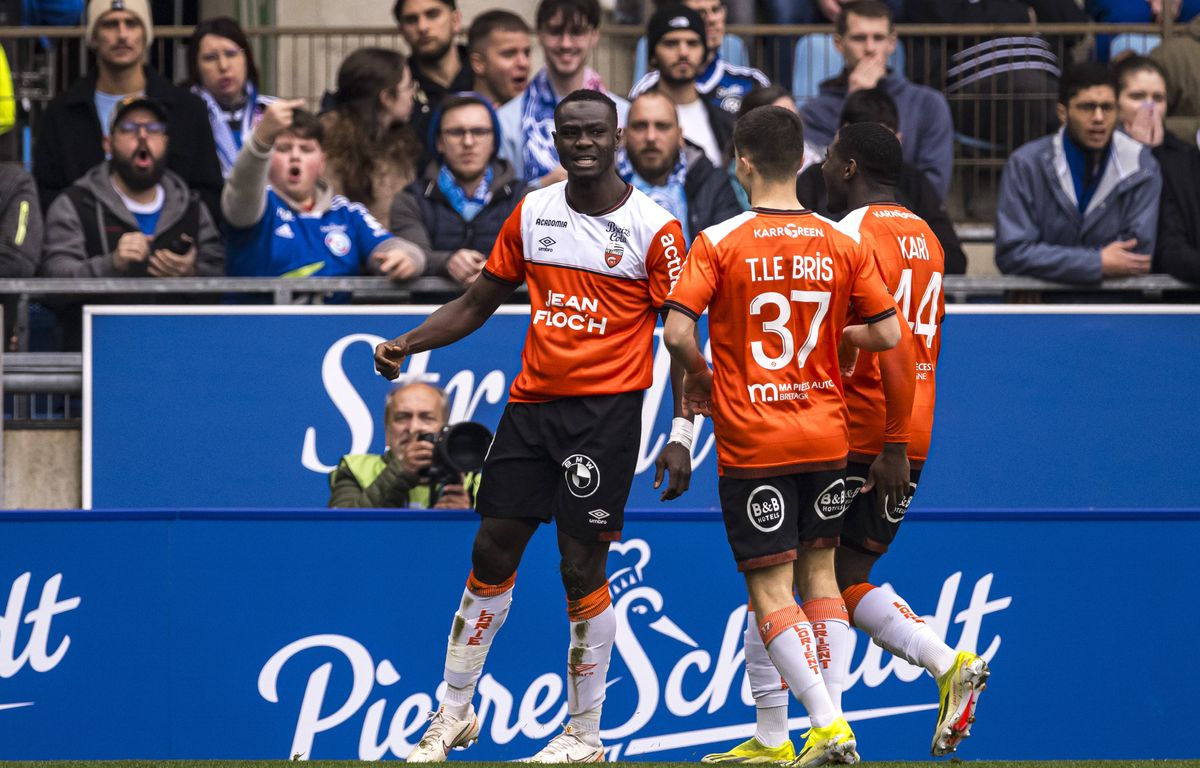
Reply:
M374 344L432 308L90 307L84 506L324 505L342 455L383 451L389 383L374 373ZM1180 474L1200 464L1200 308L948 312L917 509L1165 509L1200 498ZM467 338L414 355L404 373L444 386L451 420L494 427L528 323L528 307L502 307ZM662 504L652 487L671 415L656 344L629 506L712 509L708 424L692 490Z

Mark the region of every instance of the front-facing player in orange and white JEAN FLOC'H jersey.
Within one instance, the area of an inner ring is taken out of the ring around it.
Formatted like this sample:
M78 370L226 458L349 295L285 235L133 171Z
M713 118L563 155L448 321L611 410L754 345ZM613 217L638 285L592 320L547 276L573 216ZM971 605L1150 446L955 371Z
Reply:
M518 284L529 286L521 373L481 473L481 520L446 646L446 692L408 762L444 761L479 737L475 684L508 616L526 545L551 520L571 623L570 721L530 762L604 760L600 709L617 631L605 566L636 469L654 325L684 240L678 221L617 175L612 100L574 91L556 108L554 127L566 181L524 197L467 293L376 348L376 368L394 379L406 356L462 338ZM677 419L656 462L655 487L664 472L668 478L665 499L688 487L690 427Z

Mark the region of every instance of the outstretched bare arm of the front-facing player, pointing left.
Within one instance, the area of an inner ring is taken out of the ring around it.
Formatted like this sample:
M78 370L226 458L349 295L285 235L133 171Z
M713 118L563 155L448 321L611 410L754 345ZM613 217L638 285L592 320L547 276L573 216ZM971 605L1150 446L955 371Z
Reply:
M481 277L464 294L438 307L424 323L376 347L376 371L391 380L400 376L404 358L418 352L452 344L492 317L512 295L515 284Z

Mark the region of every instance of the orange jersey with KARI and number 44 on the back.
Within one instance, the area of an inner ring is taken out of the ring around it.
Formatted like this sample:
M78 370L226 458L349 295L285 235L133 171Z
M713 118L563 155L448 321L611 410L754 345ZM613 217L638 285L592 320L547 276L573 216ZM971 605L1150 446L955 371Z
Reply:
M869 205L847 215L841 226L853 228L864 250L872 253L880 277L905 320L902 330L907 332L902 334L901 343L908 343L913 353L908 368L913 383L908 457L924 461L932 434L941 323L946 313L942 245L929 224L902 205ZM845 380L851 450L865 456L877 455L886 440L899 434L894 415L887 408L881 374L884 361L880 358L862 355L853 376Z

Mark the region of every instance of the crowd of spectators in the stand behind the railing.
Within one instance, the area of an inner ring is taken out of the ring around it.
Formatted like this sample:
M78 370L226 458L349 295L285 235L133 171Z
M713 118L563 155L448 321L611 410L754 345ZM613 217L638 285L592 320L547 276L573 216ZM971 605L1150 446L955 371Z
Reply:
M532 26L508 10L467 25L455 0L396 0L408 54L354 50L314 113L259 91L234 19L194 28L175 85L148 64L146 0L91 0L83 22L94 66L37 121L32 176L13 167L0 176L0 276L432 275L466 286L526 191L564 178L553 112L586 88L617 103L623 176L689 239L749 208L731 173L732 127L774 103L804 119L798 196L827 216L839 212L827 210L815 166L838 128L890 128L906 163L899 202L930 221L949 272L966 270L944 204L956 148L961 156L988 143L984 121L1012 127L988 139L1012 152L996 214L1002 271L1066 283L1148 271L1200 281L1200 0L767 4L758 20L833 23L827 43L839 65L804 98L791 59L764 61L767 72L749 66L746 42L726 28L754 20L742 6L662 0L626 101L588 66L598 0L541 0ZM910 72L925 82L896 66L898 18L1078 22L1087 12L1112 22L1174 13L1183 34L1148 55L1104 41L1073 65L1056 53L1062 41L964 37L908 50L920 61ZM1021 97L1054 90L1057 98ZM947 95L964 92L997 95L979 101L1006 112L952 109Z

